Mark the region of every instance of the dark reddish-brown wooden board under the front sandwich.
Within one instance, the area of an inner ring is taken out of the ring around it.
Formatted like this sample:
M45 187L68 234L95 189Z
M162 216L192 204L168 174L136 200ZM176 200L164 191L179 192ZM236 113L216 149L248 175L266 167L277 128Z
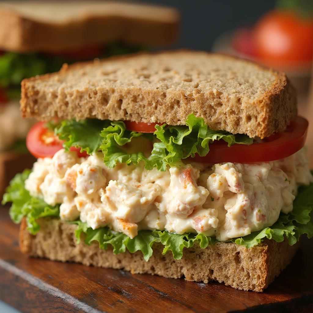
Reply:
M0 299L23 312L313 312L313 245L264 293L114 269L31 259L0 207Z

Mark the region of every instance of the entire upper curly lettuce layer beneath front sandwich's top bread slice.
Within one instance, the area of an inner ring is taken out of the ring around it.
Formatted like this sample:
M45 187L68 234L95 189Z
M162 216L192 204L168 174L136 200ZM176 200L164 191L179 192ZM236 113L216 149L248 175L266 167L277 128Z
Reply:
M65 120L56 126L50 123L50 128L64 140L64 148L68 151L71 146L81 148L88 154L103 152L103 162L109 168L118 163L138 164L144 162L145 168L151 170L156 167L166 171L167 165L174 165L196 153L205 156L209 152L209 144L215 140L223 140L231 146L235 143L250 145L253 139L247 135L233 135L227 131L213 131L208 128L203 118L190 114L184 126L156 125L154 134L144 134L128 131L124 122L100 121L86 119L82 121ZM125 145L134 138L145 137L155 141L150 156L140 151L145 147L138 145L139 151L129 152Z

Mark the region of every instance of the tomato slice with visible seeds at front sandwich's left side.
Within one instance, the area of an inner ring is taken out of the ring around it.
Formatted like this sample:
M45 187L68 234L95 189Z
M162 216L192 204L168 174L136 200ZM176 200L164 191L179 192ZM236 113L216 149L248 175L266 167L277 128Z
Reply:
M36 123L26 137L27 149L36 158L53 157L63 148L64 141L45 127L45 124L46 122ZM80 152L80 148L71 147L70 151L76 151L79 157L87 156L86 152Z

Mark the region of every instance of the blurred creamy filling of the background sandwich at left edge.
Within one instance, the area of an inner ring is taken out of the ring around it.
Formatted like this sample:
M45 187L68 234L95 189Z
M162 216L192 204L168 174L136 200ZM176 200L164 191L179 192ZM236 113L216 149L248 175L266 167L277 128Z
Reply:
M0 151L11 148L15 141L25 139L32 120L23 119L18 101L0 106Z

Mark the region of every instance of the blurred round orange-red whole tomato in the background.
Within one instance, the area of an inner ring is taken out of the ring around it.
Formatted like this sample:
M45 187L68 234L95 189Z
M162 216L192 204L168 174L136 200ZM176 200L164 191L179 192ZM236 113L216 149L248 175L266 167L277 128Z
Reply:
M275 10L254 28L256 56L267 63L308 62L313 55L313 19Z

